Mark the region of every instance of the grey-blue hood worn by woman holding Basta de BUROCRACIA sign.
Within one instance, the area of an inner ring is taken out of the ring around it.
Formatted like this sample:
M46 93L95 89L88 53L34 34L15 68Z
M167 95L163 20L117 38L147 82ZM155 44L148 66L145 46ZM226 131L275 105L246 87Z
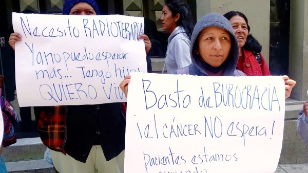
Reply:
M194 28L194 31L192 31L192 35L190 39L190 56L191 56L192 63L202 73L207 74L206 71L204 70L204 66L202 66L202 63L205 63L205 62L202 60L200 55L196 54L194 47L195 47L195 44L198 43L197 38L199 34L201 33L201 31L208 27L221 28L230 33L230 38L232 40L231 41L232 46L230 49L229 56L226 59L230 63L225 68L223 75L224 76L233 75L236 69L236 66L237 66L238 58L239 58L239 45L238 45L237 38L234 34L233 28L231 24L229 23L229 20L227 20L223 15L218 14L218 13L209 13L197 21L197 24Z

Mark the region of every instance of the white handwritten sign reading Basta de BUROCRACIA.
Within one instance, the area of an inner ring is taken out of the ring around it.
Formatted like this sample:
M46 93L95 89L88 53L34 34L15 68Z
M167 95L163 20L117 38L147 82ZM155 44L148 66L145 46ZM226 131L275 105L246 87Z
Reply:
M274 172L281 76L131 74L125 172Z

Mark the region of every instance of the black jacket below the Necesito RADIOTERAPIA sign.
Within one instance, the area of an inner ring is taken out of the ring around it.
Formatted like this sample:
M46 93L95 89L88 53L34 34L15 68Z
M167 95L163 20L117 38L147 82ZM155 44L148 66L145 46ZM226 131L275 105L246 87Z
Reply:
M125 146L125 119L121 103L70 105L66 118L65 152L86 162L93 145L101 145L107 161Z

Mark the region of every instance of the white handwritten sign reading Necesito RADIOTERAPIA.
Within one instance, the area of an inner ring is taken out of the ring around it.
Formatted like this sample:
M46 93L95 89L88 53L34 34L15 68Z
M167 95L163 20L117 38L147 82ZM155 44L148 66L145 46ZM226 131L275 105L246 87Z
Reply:
M119 83L146 72L142 17L13 13L20 106L122 102Z

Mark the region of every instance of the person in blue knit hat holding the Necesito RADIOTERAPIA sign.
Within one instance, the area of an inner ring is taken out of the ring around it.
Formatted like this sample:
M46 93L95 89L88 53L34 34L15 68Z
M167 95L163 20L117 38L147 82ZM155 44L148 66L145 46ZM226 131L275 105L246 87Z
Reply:
M66 0L63 14L98 15L94 0ZM146 53L151 44L146 35ZM21 41L18 33L10 36ZM124 172L125 119L121 103L41 107L38 132L59 172Z

